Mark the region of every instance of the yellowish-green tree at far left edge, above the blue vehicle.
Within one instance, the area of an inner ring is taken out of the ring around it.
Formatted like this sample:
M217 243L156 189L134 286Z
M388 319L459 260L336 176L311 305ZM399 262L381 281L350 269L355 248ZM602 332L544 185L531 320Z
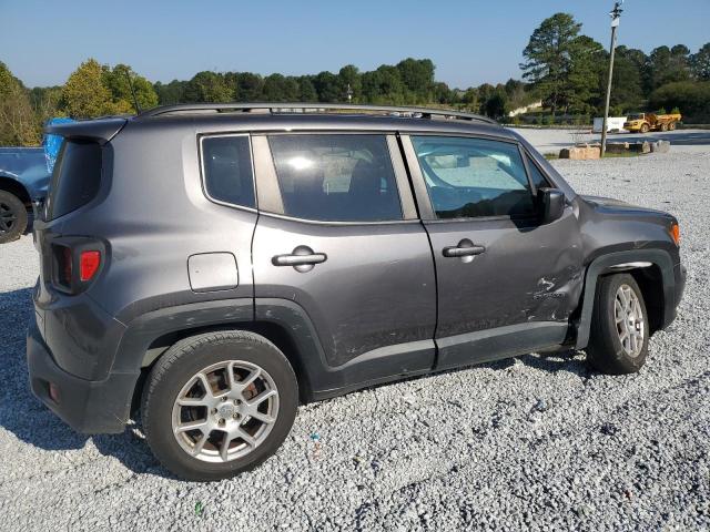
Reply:
M0 61L0 145L39 144L38 125L27 89Z

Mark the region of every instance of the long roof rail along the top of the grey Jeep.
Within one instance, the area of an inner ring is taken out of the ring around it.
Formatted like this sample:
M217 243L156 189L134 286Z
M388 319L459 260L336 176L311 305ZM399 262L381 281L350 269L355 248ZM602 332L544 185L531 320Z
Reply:
M487 124L497 124L493 119L481 116L479 114L463 113L450 109L432 109L432 108L413 108L397 105L365 105L355 103L181 103L178 105L162 105L143 111L138 114L138 119L146 119L153 116L174 115L183 113L226 113L226 112L268 112L268 113L306 113L306 112L326 112L326 111L358 111L363 113L383 113L387 115L412 115L422 119L432 119L433 116L443 116L446 119L468 120L473 122L484 122ZM416 116L419 115L419 116Z

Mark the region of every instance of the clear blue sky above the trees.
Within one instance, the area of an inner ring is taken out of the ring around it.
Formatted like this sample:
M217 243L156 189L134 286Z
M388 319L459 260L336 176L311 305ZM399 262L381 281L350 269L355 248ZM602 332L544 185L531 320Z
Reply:
M88 58L151 81L202 70L301 75L429 58L437 81L519 79L523 49L565 11L609 43L611 0L0 0L0 61L27 86L63 83ZM619 44L647 53L710 41L710 0L627 0Z

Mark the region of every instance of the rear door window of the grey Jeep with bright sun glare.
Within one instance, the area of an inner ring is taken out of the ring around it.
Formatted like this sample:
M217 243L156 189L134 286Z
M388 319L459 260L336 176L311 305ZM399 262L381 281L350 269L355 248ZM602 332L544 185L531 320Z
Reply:
M284 214L325 222L402 219L384 135L272 135Z

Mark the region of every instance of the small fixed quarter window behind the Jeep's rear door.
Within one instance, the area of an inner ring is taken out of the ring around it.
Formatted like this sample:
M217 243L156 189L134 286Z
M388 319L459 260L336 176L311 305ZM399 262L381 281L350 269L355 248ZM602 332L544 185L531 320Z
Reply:
M203 139L202 164L207 196L232 205L256 206L247 135Z

